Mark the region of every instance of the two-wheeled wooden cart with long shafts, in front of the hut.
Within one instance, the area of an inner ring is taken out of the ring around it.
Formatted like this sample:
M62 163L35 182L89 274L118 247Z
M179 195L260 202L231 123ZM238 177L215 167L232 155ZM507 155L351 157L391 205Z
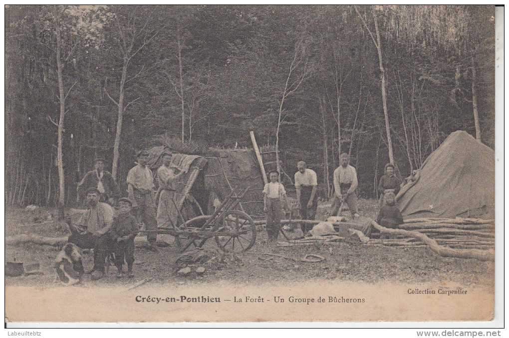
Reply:
M248 190L249 187L244 190L235 187L212 215L192 218L180 227L171 224L169 228L140 232L172 235L181 251L191 245L201 248L210 238L225 252L247 251L256 241L256 227L247 213L235 207Z

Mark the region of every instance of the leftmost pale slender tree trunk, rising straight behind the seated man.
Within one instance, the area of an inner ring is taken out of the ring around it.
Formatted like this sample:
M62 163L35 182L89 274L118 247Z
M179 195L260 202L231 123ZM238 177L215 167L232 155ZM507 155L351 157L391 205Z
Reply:
M55 6L56 12L56 6ZM56 74L59 80L59 99L60 99L60 119L58 130L58 145L56 146L56 165L59 169L59 207L63 207L65 203L65 187L64 187L64 161L62 152L63 134L64 134L64 116L65 116L65 94L63 80L63 65L61 59L62 42L60 39L60 24L56 23Z

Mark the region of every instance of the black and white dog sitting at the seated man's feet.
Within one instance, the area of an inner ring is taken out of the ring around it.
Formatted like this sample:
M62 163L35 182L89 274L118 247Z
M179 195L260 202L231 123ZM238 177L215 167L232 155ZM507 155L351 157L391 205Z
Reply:
M81 282L84 269L81 261L79 248L74 243L67 243L62 251L56 255L54 268L56 270L56 280L66 286Z

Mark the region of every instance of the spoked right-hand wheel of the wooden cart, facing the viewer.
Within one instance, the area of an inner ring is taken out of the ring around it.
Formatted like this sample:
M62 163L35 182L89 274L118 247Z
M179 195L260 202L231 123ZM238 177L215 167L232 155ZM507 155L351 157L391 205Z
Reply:
M217 246L224 252L239 253L249 250L256 240L256 227L245 212L230 210L224 214L219 231L230 231L228 236L215 236Z

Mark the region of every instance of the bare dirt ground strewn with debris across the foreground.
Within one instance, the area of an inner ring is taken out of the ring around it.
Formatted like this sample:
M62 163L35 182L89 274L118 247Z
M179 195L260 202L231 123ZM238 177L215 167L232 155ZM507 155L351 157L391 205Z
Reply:
M361 216L374 218L376 204L375 200L360 200ZM326 210L327 205L320 205L317 219L324 219ZM46 212L47 210L44 214ZM34 222L33 219L34 216L24 209L7 208L5 235L32 232L57 237L67 234L64 223L57 221L39 223ZM394 248L357 242L276 247L266 243L266 233L260 230L257 232L256 244L249 251L239 254L235 261L232 261L231 256L224 256L222 262L203 265L205 267L203 274L191 272L188 275L179 275L176 273L178 268L174 263L180 253L174 242L166 248L160 248L158 253L136 247L133 279L117 279L117 268L111 266L109 273L99 281L91 281L90 276L86 275L80 287L108 287L122 284L129 286L151 277L153 280L150 283L154 285L158 283L263 285L277 282L336 280L369 284L450 282L464 287L494 288L493 262L440 257L427 247ZM281 239L282 236L280 236ZM222 256L213 239L207 242L205 248L217 252L217 257ZM282 255L295 260L306 254L318 254L323 256L325 261L295 262L285 258L271 258L271 256L262 255L263 253ZM40 274L6 276L6 285L41 288L58 286L59 284L55 283L55 272L52 268L57 254L58 249L47 245L32 243L22 244L19 247L6 245L7 261L15 258L18 262L39 262L41 266ZM86 270L91 268L92 262L92 255L84 253L83 265Z

